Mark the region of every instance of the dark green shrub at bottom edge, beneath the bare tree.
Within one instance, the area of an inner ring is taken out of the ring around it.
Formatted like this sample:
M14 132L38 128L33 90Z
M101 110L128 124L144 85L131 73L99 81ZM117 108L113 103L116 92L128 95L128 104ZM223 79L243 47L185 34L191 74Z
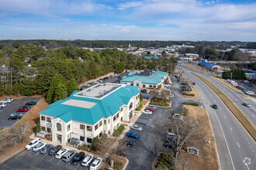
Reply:
M174 155L168 153L162 153L161 158L157 164L157 169L169 169L172 170L174 163L172 162Z

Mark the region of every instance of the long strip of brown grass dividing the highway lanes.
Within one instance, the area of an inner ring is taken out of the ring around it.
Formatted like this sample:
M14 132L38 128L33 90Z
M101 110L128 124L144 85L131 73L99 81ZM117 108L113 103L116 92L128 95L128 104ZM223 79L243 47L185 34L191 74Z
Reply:
M220 97L221 100L223 100L223 103L226 104L226 106L230 109L230 111L234 114L234 116L237 117L238 121L240 121L240 123L243 124L244 128L248 131L249 134L251 134L251 137L254 138L254 141L255 141L255 138L256 138L255 126L247 118L244 112L240 110L240 108L237 107L237 105L234 104L234 102L230 100L230 98L227 97L227 95L223 93L222 90L220 90L218 87L213 85L213 83L209 82L209 80L206 80L202 76L199 76L195 73L192 73L192 74L198 77L204 83L206 83L206 85L209 86Z

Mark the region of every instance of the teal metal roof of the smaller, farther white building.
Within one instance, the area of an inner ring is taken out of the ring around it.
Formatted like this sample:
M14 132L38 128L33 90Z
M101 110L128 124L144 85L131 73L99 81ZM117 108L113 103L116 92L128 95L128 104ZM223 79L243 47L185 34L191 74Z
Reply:
M142 83L150 83L150 84L157 84L163 80L164 76L168 75L167 72L164 71L157 71L156 73L152 74L151 76L129 76L123 77L121 82L133 82L134 80L140 80Z

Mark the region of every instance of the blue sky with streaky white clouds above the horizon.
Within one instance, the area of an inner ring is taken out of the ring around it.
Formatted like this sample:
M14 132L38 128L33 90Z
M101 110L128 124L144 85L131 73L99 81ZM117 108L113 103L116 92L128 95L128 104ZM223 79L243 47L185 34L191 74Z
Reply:
M256 42L256 0L0 0L0 39Z

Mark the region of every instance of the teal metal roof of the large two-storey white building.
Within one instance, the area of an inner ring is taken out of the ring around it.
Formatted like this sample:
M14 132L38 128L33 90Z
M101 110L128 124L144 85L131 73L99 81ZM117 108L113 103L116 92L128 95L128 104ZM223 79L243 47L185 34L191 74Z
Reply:
M118 90L115 90L112 93L109 93L109 95L106 97L102 97L102 99L74 96L74 94L77 92L78 91L74 91L70 97L67 97L64 100L59 100L54 104L50 104L46 110L40 111L40 114L47 114L54 116L55 118L59 117L65 122L73 120L88 124L95 124L102 117L109 117L116 114L120 107L122 107L123 104L128 104L130 98L140 93L140 90L139 87L126 85L124 87L120 87ZM96 104L89 109L62 104L64 101L70 99L85 100L94 102Z

